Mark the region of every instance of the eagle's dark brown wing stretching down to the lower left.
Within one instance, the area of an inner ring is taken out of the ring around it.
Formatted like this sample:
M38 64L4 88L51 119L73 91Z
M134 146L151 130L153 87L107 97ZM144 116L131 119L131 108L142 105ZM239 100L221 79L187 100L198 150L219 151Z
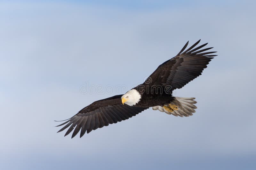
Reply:
M129 117L135 116L143 110L148 109L132 107L127 104L123 105L121 102L121 96L122 95L117 95L93 102L80 110L75 116L68 119L68 121L58 125L61 126L66 124L58 132L67 129L71 125L65 136L76 127L72 134L72 138L76 136L80 129L81 138L86 131L89 133L92 130L108 126L108 124L121 122L122 120L129 119Z

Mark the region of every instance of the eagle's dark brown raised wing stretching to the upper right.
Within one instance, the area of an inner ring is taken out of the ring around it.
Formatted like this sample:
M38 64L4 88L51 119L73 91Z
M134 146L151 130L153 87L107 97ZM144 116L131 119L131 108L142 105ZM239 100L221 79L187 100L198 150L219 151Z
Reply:
M201 75L204 68L207 67L206 65L209 64L211 59L217 55L209 55L216 52L204 52L212 49L213 47L201 49L208 43L194 48L199 42L200 40L184 51L188 46L187 42L175 57L165 61L157 67L144 84L150 86L171 85L172 90L174 90L182 88L189 81L194 80L196 77Z

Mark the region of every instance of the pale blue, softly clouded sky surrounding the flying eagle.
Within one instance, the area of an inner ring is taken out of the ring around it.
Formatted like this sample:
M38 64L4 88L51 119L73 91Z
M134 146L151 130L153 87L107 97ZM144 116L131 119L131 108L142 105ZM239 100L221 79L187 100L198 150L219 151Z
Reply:
M255 2L1 1L1 169L255 169ZM148 109L83 138L56 133L109 94L142 83L189 40L219 56L176 96L192 117ZM143 63L143 64L142 64ZM124 70L125 68L125 70Z

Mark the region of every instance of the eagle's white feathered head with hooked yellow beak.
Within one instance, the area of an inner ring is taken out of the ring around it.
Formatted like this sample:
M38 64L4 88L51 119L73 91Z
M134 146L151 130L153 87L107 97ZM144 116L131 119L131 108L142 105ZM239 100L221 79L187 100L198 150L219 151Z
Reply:
M127 91L122 97L122 103L127 104L129 106L133 106L140 102L141 95L136 89L131 89Z

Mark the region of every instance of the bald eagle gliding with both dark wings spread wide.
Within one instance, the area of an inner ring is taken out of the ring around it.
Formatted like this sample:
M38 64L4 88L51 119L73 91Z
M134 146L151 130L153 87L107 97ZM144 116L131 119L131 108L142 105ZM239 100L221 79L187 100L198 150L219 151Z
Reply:
M201 75L211 59L217 56L209 55L216 52L204 52L213 48L202 49L208 43L195 47L199 42L200 40L186 49L187 42L175 57L158 66L144 83L124 95L98 100L84 107L66 122L58 125L65 125L58 132L70 126L65 136L75 128L71 138L80 130L81 138L85 132L89 133L108 124L129 119L149 107L174 116L193 115L196 109L195 98L175 97L172 96L172 91L182 88Z

